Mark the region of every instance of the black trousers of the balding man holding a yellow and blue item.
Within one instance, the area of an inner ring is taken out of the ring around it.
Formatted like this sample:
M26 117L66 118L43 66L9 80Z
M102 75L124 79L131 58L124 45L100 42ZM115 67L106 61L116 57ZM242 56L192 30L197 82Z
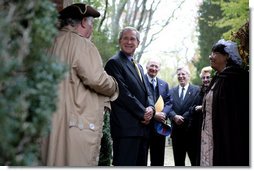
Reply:
M165 136L157 134L155 131L151 132L149 139L151 166L164 166L165 140Z

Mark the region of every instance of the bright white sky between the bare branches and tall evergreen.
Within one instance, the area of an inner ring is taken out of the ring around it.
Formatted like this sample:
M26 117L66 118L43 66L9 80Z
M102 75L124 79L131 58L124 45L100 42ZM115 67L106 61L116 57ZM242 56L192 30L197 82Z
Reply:
M181 9L175 14L175 19L160 33L160 36L155 40L147 49L146 53L141 59L144 63L147 58L158 56L162 59L167 59L168 65L175 62L172 51L182 51L179 55L184 58L191 59L194 56L195 49L197 48L197 10L201 0L186 0ZM163 20L163 17L168 16L179 0L162 0L162 4L157 12L157 20ZM183 45L184 43L184 45ZM186 48L188 47L187 55ZM166 53L165 53L166 52Z

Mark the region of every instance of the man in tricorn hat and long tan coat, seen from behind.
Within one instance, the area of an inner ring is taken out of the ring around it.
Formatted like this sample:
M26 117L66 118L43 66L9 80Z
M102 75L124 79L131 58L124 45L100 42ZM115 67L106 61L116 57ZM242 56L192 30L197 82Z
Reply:
M98 165L103 114L118 96L115 79L103 69L101 56L89 40L100 13L76 3L59 13L60 32L49 55L69 66L59 85L51 130L42 140L42 165Z

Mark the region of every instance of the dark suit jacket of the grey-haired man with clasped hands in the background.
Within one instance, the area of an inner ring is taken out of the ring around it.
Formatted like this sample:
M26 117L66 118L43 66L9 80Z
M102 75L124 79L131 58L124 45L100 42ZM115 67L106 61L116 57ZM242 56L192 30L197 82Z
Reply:
M177 127L184 126L186 128L187 126L189 126L188 124L191 117L189 109L191 106L193 106L195 102L194 99L196 96L198 96L200 91L198 86L190 84L186 92L186 95L184 97L184 101L181 104L178 90L179 90L179 85L169 90L169 93L172 97L172 104L173 104L172 111L169 114L170 119L172 121L173 130ZM185 123L181 126L176 125L174 121L172 120L175 115L182 115L184 117Z

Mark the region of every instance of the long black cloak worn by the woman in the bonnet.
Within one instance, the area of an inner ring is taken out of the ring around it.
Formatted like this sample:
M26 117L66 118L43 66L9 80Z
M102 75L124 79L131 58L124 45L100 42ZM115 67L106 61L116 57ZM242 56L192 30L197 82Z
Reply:
M209 87L214 84L213 97L207 98L212 99L212 108L206 108L204 114L205 118L212 118L212 165L248 166L249 73L230 66L216 75ZM212 116L207 116L211 109ZM203 145L201 142L201 149ZM201 161L204 157L201 154Z

